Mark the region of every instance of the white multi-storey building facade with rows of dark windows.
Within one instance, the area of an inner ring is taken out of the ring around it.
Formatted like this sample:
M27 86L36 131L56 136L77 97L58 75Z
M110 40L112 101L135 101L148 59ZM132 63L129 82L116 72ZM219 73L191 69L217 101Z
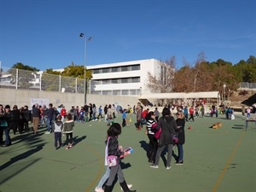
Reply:
M92 72L90 94L112 96L148 94L148 72L159 77L163 71L160 61L155 59L101 64L86 68Z

